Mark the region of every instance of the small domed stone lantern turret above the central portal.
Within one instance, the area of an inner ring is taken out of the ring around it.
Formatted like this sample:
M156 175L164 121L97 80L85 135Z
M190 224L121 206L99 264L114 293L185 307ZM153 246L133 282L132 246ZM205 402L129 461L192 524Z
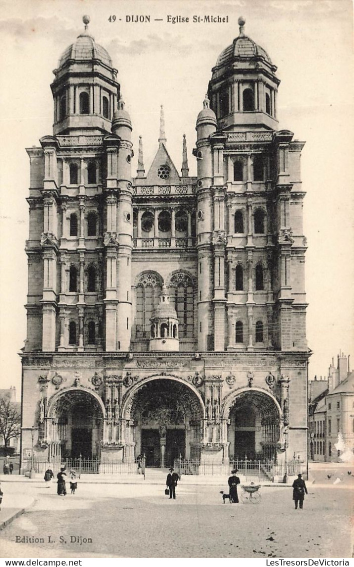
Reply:
M166 286L161 290L159 304L150 320L150 350L178 351L178 317L176 309L170 305Z

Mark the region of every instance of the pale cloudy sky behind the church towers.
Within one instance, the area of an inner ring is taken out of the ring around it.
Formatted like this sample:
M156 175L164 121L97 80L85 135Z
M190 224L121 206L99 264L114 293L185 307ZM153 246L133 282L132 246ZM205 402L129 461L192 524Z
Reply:
M91 18L89 32L118 69L133 123L133 171L139 136L150 167L163 104L169 154L180 170L186 134L190 175L196 174L195 121L217 56L238 36L239 16L246 20L246 35L278 66L279 128L306 141L301 170L309 378L325 376L339 350L354 354L352 2L0 0L1 387L20 388L18 352L26 334L25 148L52 134L52 71L82 32L84 14ZM228 23L167 22L168 15L191 20L204 14L228 16ZM151 22L127 22L133 15L150 15Z

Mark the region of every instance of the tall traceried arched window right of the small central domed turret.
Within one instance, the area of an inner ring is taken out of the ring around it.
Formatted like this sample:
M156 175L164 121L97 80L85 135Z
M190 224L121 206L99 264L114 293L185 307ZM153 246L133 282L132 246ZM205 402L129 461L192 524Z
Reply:
M180 338L193 337L193 281L188 274L173 274L169 285L170 304L174 305L178 317Z

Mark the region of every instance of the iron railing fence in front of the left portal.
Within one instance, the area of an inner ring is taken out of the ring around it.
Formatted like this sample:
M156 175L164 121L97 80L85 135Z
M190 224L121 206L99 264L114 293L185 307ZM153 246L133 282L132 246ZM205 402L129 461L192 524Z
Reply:
M48 461L35 460L33 468L36 473L44 475L46 469L51 468L56 474L61 467L66 467L67 471L74 469L76 475L143 475L145 478L145 459L131 461L127 463L110 461L102 462L100 459L53 459Z

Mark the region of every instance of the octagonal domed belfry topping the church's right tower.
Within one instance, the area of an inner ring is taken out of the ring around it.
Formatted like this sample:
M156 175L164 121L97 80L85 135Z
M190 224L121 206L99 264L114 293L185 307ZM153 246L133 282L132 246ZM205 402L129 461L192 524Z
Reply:
M219 129L278 129L276 94L280 80L265 49L240 33L219 55L208 87L211 108Z

